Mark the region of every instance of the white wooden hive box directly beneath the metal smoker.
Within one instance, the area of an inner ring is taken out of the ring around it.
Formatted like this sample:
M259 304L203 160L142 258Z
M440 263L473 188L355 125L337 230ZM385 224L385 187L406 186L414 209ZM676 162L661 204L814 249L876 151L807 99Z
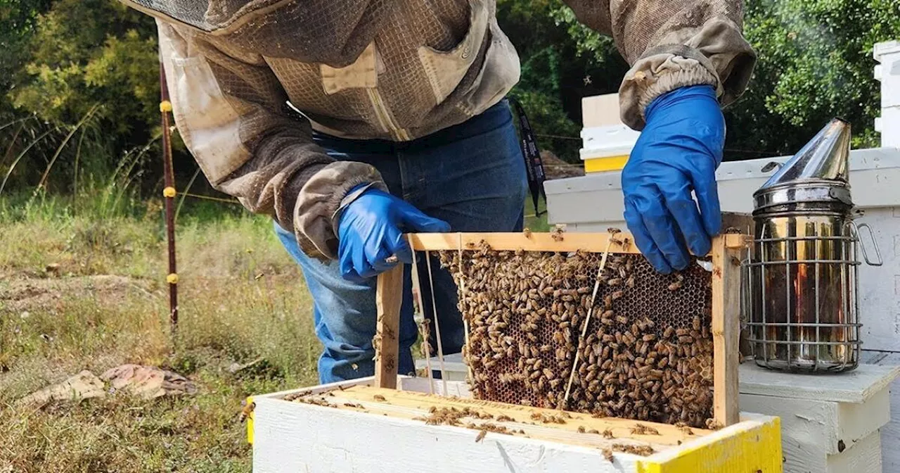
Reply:
M870 358L873 364L842 375L788 375L747 361L740 369L739 404L744 412L781 418L786 473L900 472L896 449L890 448L900 445L900 431L888 425L890 384L900 383L895 381L900 367L874 364L885 360L900 361L900 356ZM439 360L429 361L438 377ZM416 366L425 365L418 360ZM466 376L459 353L444 357L444 369L448 380ZM900 403L894 404L900 414Z

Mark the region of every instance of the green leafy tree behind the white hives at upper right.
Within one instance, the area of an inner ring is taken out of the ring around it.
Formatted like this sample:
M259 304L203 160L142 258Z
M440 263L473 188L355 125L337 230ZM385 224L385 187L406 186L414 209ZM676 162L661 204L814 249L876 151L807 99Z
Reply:
M746 0L744 11L744 34L760 58L749 88L726 109L725 159L790 154L833 116L853 124L855 146L877 146L872 46L900 39L900 2ZM617 55L571 12L556 18L595 63Z

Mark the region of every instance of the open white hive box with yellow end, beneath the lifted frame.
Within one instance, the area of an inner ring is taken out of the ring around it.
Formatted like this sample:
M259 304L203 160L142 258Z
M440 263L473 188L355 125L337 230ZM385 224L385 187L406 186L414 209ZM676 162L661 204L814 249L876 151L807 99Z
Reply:
M254 396L253 471L425 472L429 473L778 473L782 471L779 419L742 414L742 422L721 430L684 432L663 424L631 432L634 421L568 414L564 423L535 421L537 411L561 411L500 405L468 399L464 383L448 381L447 393L427 395L428 380L399 377L398 389L376 389L373 378ZM443 392L443 382L434 390ZM328 393L333 393L329 396ZM313 396L329 405L298 403L292 396ZM315 397L319 396L319 397ZM472 408L493 419L465 417L459 425L426 422L433 406ZM500 420L498 414L509 414ZM485 423L509 427L509 433L480 434ZM584 431L585 429L598 432ZM606 426L615 437L599 434ZM521 430L521 432L519 432ZM649 455L610 445L652 446ZM611 460L608 459L611 455Z

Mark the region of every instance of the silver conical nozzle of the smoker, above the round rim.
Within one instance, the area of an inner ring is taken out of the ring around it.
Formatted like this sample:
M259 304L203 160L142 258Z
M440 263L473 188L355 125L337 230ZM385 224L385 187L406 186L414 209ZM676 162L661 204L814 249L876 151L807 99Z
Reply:
M760 190L789 182L833 180L847 183L850 123L834 118L812 140L788 159Z

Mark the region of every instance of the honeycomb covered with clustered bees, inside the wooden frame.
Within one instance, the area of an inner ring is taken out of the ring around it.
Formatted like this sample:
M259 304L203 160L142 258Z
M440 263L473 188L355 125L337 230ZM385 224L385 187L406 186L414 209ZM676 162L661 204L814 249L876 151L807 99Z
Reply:
M439 257L460 288L475 398L714 426L711 277L699 265L661 275L610 253L598 275L600 253L484 242Z

